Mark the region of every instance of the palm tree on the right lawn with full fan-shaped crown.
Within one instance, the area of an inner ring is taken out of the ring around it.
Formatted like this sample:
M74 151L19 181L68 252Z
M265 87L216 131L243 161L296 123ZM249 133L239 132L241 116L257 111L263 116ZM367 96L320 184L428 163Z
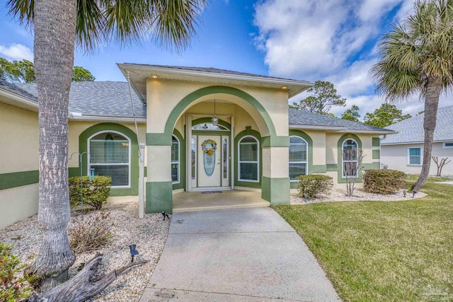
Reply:
M439 96L453 88L453 0L417 0L414 13L396 23L379 43L371 69L377 93L395 102L418 94L425 100L425 146L417 192L430 172Z

